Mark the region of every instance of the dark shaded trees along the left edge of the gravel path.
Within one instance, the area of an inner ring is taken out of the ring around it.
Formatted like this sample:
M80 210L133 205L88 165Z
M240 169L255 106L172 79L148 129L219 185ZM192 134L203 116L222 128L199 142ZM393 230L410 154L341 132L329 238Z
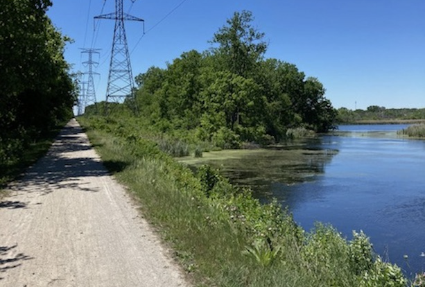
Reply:
M46 16L49 0L0 0L0 185L46 150L72 116L65 42ZM44 146L40 149L40 146Z

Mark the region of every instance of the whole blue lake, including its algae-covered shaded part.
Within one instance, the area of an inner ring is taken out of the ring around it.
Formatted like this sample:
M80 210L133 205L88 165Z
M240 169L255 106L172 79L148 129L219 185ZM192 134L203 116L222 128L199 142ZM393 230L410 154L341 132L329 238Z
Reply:
M348 239L363 230L383 259L410 275L425 270L425 141L397 137L406 127L343 125L266 150L205 153L202 161L252 186L263 202L277 198L306 230L316 221Z

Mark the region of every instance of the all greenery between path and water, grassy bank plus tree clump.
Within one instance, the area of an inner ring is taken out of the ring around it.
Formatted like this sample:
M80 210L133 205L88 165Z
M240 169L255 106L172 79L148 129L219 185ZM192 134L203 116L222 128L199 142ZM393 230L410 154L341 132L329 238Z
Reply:
M294 64L264 59L251 21L236 12L209 51L137 76L138 113L131 100L108 116L88 107L78 120L196 286L407 286L363 232L351 240L329 225L305 232L276 201L261 205L214 168L193 173L173 159L333 128L337 112L323 85Z

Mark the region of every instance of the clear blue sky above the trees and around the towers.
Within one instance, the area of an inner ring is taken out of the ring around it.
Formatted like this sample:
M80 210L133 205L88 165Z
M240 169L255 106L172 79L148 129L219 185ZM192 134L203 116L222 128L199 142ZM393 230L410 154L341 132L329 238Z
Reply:
M253 25L266 33L266 58L317 77L334 107L425 107L424 0L123 1L125 12L144 19L148 31L142 37L141 23L125 22L134 76L164 68L191 49L209 49L226 19L250 10ZM93 17L103 7L103 14L114 12L114 3L53 0L48 12L75 41L65 52L73 71L85 71L80 48L102 49L95 69L101 74L95 78L98 101L105 100L114 21L98 20L94 31Z

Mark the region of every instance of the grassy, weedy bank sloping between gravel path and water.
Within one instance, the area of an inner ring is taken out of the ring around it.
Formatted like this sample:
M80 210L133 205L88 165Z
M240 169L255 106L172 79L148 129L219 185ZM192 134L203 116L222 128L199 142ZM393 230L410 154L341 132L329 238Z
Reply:
M298 227L209 166L194 175L128 118L78 119L105 165L141 201L196 286L407 286L397 266L333 227Z

